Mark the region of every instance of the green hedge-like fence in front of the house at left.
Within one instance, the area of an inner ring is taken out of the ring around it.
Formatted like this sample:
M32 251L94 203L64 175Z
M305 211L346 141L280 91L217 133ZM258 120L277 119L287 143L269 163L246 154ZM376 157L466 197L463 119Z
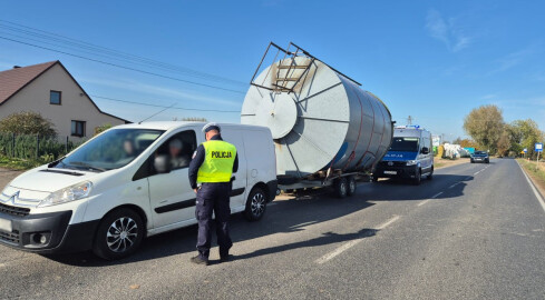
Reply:
M9 158L40 159L50 161L70 152L84 141L72 142L58 137L38 134L0 133L0 154Z

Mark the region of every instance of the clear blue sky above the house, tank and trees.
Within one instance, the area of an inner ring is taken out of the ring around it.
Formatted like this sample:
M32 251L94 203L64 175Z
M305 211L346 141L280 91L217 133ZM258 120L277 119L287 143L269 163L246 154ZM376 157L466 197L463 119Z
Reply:
M545 129L543 16L543 1L3 1L0 20L214 74L223 79L142 68L240 92L1 39L0 69L59 59L91 96L239 111L266 44L293 41L379 96L398 124L412 116L454 139L465 136L470 109L488 103L499 106L506 121L532 118ZM0 37L20 39L13 34L0 27ZM160 110L95 101L133 121ZM236 112L183 110L154 120L175 117L240 120Z

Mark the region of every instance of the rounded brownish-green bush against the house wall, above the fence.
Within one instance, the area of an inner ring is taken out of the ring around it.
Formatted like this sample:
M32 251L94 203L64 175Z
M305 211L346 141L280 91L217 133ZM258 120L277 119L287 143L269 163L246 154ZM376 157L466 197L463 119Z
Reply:
M41 137L56 137L53 123L41 117L39 112L14 112L0 120L0 132L16 134L39 134Z

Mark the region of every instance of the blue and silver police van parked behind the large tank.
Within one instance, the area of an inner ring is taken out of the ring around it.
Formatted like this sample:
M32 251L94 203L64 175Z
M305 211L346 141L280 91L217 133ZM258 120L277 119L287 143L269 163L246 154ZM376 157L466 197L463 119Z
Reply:
M372 173L379 178L405 178L420 184L422 177L434 177L431 132L419 126L396 127L390 149Z

